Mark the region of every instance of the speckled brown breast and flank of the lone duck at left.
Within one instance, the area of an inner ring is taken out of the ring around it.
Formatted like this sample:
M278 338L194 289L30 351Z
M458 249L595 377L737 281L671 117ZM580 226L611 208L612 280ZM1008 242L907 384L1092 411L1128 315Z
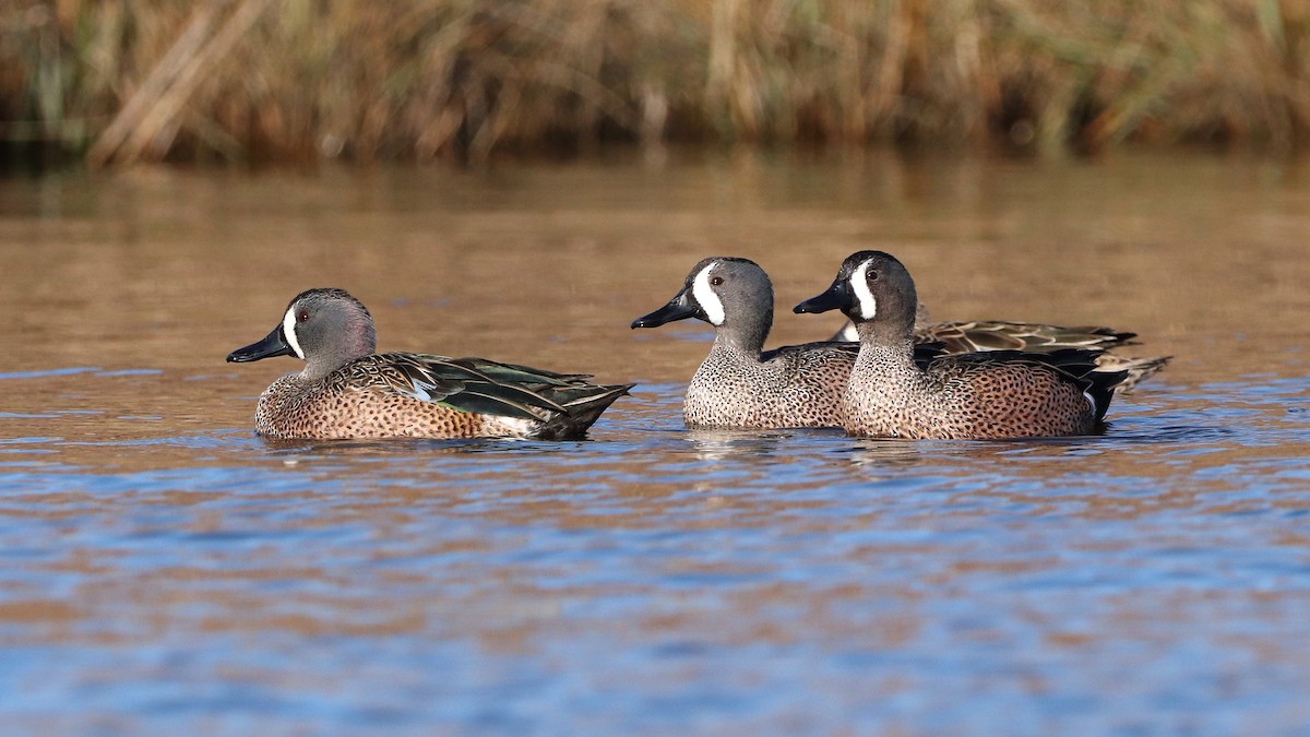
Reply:
M307 384L283 376L259 396L255 431L272 438L527 437L533 422L502 420L394 393L380 387Z

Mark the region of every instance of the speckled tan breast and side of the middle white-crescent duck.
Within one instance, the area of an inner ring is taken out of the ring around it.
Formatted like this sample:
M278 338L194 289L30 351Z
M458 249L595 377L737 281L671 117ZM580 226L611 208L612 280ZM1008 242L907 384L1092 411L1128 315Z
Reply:
M791 346L772 359L715 346L686 387L693 428L840 428L854 354Z

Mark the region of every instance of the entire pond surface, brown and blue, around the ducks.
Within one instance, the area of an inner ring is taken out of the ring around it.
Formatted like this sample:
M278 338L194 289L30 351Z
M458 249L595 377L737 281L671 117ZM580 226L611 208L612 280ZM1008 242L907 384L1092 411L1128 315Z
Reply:
M0 181L0 723L94 734L1305 734L1310 167L675 155ZM705 256L1172 363L1102 437L688 431ZM341 286L386 350L641 382L584 442L267 442Z

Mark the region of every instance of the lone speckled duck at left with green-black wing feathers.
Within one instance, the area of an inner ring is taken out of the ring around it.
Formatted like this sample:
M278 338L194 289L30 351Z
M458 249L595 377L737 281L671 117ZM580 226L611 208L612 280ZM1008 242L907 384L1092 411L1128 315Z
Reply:
M305 362L259 396L255 430L274 438L579 438L633 387L482 358L375 354L376 345L363 303L314 289L291 300L269 337L228 361Z

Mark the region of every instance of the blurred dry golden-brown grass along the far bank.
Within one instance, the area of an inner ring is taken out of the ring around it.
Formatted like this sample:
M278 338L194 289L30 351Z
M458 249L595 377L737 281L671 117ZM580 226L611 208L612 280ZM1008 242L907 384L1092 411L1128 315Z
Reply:
M604 140L1290 149L1306 0L10 0L0 140L481 161Z

